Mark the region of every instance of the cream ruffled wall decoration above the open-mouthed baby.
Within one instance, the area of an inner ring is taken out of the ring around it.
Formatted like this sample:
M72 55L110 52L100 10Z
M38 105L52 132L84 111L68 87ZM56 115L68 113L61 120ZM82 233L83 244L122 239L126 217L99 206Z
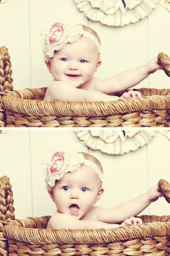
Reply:
M122 155L146 145L154 131L97 131L79 130L76 135L92 150L100 150L110 155Z

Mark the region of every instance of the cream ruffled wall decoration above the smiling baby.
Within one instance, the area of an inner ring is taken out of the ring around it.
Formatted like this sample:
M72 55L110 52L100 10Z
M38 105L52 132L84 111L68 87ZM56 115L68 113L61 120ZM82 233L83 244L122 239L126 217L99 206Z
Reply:
M158 0L75 0L75 3L90 20L121 27L148 16Z

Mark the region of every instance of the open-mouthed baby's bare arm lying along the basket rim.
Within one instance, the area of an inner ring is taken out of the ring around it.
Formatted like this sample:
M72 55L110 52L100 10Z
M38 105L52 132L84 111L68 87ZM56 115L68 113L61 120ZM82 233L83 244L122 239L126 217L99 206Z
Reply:
M48 229L113 229L119 226L102 221L78 220L63 213L55 213L48 222Z

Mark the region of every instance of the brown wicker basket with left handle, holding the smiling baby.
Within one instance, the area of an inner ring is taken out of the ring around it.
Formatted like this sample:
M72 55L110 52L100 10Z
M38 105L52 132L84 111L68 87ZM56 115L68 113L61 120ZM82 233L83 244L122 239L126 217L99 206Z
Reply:
M42 101L46 88L12 90L10 56L0 48L0 127L170 127L170 90L109 102ZM118 93L117 95L121 95Z

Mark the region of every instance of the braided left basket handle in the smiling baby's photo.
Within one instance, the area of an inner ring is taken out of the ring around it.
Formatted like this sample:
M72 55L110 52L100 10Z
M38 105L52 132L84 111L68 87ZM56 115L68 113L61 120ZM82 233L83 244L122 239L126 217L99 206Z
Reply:
M6 93L13 90L12 85L12 64L8 49L0 47L0 92Z

